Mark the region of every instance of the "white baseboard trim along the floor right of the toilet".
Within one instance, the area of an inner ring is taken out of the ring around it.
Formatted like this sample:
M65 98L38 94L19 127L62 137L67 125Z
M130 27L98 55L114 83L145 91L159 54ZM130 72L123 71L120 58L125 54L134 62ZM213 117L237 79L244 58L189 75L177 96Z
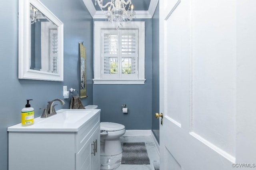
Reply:
M156 137L153 134L152 130L126 130L126 132L123 136L151 136L151 138L156 146L158 155L159 155L159 144L158 144Z

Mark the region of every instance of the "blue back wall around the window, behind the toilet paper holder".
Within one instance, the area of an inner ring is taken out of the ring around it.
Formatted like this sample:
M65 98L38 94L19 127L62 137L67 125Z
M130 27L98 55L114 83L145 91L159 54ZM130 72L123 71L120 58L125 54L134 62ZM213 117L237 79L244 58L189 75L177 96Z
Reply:
M102 21L102 20L94 20ZM152 126L152 20L145 21L145 78L144 85L94 85L93 104L101 110L102 122L123 124L127 130L151 129ZM128 114L121 105L126 104Z

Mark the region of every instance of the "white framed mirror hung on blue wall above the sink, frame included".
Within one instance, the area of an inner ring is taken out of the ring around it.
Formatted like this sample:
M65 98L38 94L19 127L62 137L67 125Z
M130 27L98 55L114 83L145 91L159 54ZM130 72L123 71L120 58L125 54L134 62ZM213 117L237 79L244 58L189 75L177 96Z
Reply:
M63 23L39 0L19 0L19 79L63 81Z

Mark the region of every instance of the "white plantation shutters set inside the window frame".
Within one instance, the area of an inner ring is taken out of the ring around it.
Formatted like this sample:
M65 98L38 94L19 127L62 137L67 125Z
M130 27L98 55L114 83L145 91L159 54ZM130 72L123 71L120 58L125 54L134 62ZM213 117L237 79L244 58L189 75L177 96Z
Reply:
M138 30L102 30L102 78L138 78Z

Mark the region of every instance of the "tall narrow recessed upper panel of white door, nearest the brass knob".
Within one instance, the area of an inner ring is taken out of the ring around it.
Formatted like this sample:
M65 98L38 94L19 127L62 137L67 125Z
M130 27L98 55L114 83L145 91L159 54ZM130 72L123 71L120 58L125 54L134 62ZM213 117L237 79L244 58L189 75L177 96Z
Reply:
M181 57L181 36L182 32L179 28L181 28L181 16L179 15L181 12L178 7L172 16L168 17L165 20L164 26L166 31L166 37L170 37L175 41L166 41L164 45L166 62L165 68L167 68L166 75L168 75L168 79L166 79L165 87L166 92L166 106L164 113L166 113L166 117L169 117L170 120L176 123L178 126L181 124L180 120L180 112L182 111L182 93L183 88L180 88L182 85L182 57ZM169 55L172 54L172 55ZM174 64L175 63L175 64ZM176 82L176 83L173 83Z

